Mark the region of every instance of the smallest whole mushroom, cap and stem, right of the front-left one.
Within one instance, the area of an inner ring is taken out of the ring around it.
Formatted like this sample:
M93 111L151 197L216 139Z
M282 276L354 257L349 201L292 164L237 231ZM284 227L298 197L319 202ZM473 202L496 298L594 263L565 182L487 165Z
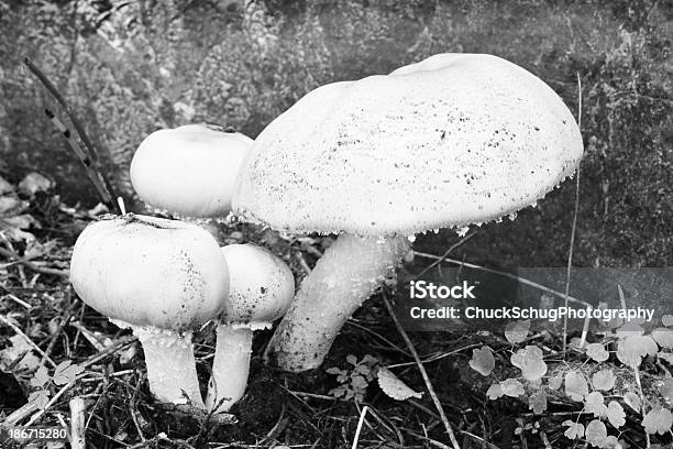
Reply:
M228 412L245 393L253 331L272 326L295 295L290 269L269 251L253 244L222 248L231 277L220 316L212 377L206 405Z

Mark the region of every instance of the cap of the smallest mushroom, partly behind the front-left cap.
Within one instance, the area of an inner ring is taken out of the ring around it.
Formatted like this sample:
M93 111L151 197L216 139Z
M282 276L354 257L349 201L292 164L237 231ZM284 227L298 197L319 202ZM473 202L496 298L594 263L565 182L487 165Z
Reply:
M254 244L222 247L231 283L220 321L264 328L280 318L295 296L290 269L271 251Z

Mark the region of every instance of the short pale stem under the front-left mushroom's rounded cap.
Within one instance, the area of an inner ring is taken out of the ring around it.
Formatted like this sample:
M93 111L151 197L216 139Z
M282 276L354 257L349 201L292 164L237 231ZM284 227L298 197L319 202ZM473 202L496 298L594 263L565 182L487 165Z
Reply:
M150 391L159 401L173 404L184 404L187 396L194 407L203 408L191 332L179 336L157 328L132 329L145 352Z

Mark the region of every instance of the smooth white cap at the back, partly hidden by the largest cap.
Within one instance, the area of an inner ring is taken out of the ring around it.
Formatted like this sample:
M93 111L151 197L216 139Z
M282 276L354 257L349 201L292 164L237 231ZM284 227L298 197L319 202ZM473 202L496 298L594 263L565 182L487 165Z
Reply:
M131 162L131 183L148 205L183 217L231 210L236 174L253 140L205 124L150 134Z

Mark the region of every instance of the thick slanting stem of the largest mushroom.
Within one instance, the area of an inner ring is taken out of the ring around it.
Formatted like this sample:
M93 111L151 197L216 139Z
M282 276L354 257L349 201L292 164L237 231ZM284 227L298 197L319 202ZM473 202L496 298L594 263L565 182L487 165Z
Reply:
M265 360L300 372L319 366L346 319L409 250L406 237L341 234L304 280Z

